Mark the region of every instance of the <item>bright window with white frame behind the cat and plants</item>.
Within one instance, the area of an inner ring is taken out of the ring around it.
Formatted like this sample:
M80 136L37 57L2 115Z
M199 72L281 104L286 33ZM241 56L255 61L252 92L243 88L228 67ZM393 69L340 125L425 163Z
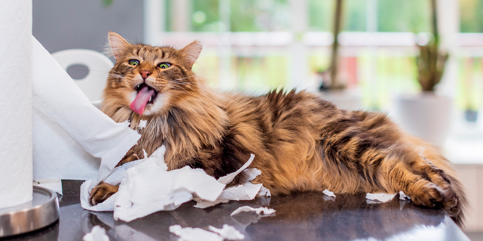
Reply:
M209 84L254 92L317 90L329 66L333 0L145 1L146 29L158 29L145 39L178 46L203 41L194 69ZM375 110L389 107L394 95L417 93L415 38L430 31L429 0L344 2L340 69L346 86ZM461 110L477 108L483 102L483 0L445 3L440 31L456 38L446 43L454 60L440 89L453 94Z

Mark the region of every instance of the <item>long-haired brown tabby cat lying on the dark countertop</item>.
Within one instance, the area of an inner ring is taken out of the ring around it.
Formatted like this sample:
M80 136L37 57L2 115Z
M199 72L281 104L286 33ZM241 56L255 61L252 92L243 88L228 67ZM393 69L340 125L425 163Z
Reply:
M346 111L307 92L261 96L216 93L191 67L202 44L182 49L130 44L109 33L116 64L101 110L137 130L138 144L119 162L166 146L169 169L189 165L216 178L250 167L274 195L324 190L335 193L406 193L418 205L442 207L462 223L467 201L450 162L434 147L402 132L384 114ZM157 184L163 185L163 184ZM97 204L117 191L100 183Z

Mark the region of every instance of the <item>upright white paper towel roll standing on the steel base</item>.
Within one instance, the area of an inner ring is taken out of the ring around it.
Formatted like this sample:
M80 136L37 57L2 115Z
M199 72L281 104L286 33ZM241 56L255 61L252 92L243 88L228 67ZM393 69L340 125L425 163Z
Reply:
M32 1L0 4L0 208L32 200Z

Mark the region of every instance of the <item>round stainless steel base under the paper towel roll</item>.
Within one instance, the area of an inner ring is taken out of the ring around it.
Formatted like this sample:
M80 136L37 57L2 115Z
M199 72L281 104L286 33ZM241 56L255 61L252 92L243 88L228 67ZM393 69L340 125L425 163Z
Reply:
M33 199L24 204L0 209L0 238L47 227L59 218L57 193L33 186Z

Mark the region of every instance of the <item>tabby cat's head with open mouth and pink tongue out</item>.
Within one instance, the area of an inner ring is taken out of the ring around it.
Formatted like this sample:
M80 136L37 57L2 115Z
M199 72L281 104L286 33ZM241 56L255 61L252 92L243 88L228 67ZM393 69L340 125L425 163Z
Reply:
M198 91L191 67L202 48L197 40L182 49L131 44L110 32L108 52L116 63L109 72L104 99L139 115L167 111L173 102Z

